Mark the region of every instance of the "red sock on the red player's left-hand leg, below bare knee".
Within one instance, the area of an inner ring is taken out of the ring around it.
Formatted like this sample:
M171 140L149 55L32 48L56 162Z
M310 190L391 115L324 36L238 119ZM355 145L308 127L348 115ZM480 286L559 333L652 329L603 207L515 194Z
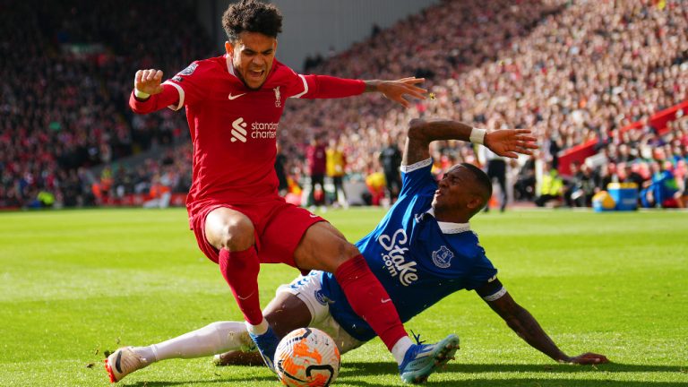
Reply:
M258 271L261 271L261 263L258 262L254 246L240 252L219 250L219 271L232 289L245 320L252 325L261 323L261 300L258 297Z

